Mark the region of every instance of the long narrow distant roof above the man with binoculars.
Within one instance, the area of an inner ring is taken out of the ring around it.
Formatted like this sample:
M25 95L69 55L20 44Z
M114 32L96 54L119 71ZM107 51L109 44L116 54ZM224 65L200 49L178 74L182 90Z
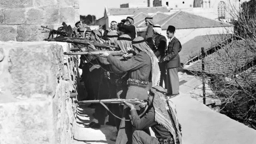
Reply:
M156 12L169 12L169 9L166 6L158 7L146 7L146 8L108 8L107 12L109 15L130 15L143 13L156 13Z

